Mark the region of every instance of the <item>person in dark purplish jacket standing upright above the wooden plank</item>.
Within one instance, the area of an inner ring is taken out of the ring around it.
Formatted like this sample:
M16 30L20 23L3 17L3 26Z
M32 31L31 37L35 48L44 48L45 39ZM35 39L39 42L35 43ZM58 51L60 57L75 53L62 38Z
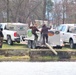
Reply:
M48 30L51 29L51 26L48 28L45 24L42 26L41 30L41 35L43 36L43 45L45 45L45 40L46 43L48 43Z

